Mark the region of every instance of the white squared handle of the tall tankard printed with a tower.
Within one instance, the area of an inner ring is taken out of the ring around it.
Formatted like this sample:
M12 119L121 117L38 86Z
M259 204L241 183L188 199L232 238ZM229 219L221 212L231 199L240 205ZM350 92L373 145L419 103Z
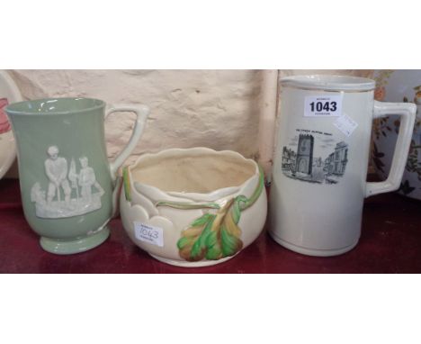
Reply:
M411 103L381 103L374 101L373 119L386 117L390 114L400 116L400 127L395 152L388 178L383 182L367 183L365 196L387 193L399 189L400 181L407 164L409 145L414 131L417 106Z

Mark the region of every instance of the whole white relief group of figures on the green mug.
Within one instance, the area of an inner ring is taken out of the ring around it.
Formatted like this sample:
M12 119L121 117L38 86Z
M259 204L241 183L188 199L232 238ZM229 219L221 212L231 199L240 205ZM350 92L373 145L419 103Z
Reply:
M88 158L79 158L81 168L77 172L75 158L70 160L70 167L67 168L67 159L59 157L58 153L57 146L47 149L49 158L44 161L48 178L47 195L40 182L31 188L31 202L35 203L37 216L57 219L100 209L101 197L105 192L96 180L94 168L88 166Z

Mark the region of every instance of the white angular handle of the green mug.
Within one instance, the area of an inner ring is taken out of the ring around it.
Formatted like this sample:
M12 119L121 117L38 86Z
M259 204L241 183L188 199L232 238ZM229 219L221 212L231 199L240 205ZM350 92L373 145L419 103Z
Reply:
M121 167L122 163L126 158L129 158L131 152L133 151L133 149L135 149L136 145L138 144L138 141L142 136L143 129L145 128L145 123L148 119L148 114L150 111L148 106L142 104L113 104L110 108L106 110L105 118L108 117L110 113L118 112L136 113L136 122L128 144L117 155L117 158L115 158L114 161L110 162L110 170L113 178L116 177L119 167Z

